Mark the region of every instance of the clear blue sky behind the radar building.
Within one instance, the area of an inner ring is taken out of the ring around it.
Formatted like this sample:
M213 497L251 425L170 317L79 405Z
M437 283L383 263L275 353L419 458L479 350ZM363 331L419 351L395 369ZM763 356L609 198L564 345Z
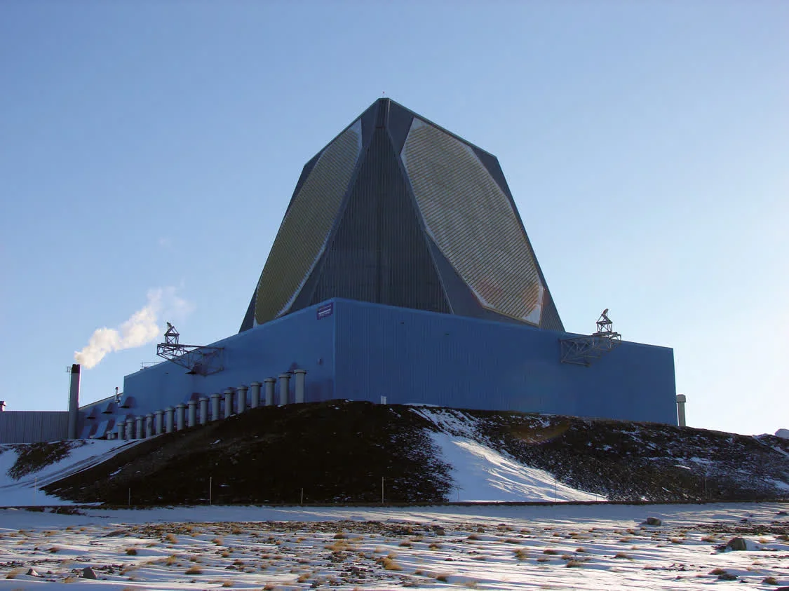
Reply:
M185 342L236 332L301 167L382 92L499 157L569 330L673 347L691 425L789 427L789 2L745 0L5 0L8 409L65 409L148 290Z

